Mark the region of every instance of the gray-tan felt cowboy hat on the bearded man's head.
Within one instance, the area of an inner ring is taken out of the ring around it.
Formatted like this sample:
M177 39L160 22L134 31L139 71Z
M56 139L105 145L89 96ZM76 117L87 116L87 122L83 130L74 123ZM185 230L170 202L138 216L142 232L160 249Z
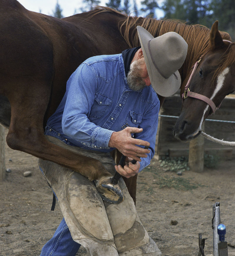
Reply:
M164 97L173 95L181 86L178 70L186 58L187 43L175 32L154 38L141 26L137 31L154 91Z

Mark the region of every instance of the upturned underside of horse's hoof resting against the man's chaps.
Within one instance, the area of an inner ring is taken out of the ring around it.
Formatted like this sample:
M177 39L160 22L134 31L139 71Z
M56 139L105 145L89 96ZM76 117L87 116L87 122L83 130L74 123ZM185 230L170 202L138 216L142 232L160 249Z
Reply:
M122 190L118 184L113 185L110 178L96 182L96 189L101 198L108 203L118 204L124 200Z

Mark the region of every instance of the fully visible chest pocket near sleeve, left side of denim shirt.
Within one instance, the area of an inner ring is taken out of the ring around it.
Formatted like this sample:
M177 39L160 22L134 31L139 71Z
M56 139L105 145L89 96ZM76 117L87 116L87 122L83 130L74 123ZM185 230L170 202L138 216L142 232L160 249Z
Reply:
M96 92L94 104L91 107L89 117L92 119L102 117L108 111L111 103L111 98L105 96L104 94Z

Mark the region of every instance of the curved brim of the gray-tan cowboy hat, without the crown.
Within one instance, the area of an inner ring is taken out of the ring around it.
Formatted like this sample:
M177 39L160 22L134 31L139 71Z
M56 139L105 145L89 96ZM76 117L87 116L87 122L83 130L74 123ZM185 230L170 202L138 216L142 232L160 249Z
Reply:
M167 79L164 78L155 68L148 50L148 42L154 37L141 26L137 26L137 31L152 88L156 93L163 97L173 95L180 89L181 86L181 77L179 71L175 72L175 75L171 75Z

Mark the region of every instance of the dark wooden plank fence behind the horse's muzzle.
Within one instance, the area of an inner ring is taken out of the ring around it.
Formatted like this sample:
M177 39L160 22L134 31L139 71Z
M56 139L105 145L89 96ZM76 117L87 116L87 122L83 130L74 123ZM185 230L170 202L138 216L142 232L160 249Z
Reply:
M227 96L223 100L220 109L209 118L213 120L235 121L234 96L235 95L233 94ZM160 115L179 116L181 113L181 106L182 99L180 98L180 95L175 94L165 99ZM174 138L173 128L176 121L176 118L159 117L159 127L155 147L155 156L158 159L161 159L163 156L188 157L189 150L193 150L193 148L195 148L195 145L190 147L190 144L195 144L197 142L195 140L190 143L183 143ZM212 135L214 138L224 139L225 141L235 141L235 124L208 121L205 121L204 123L204 131L207 134ZM199 136L199 138L200 137L202 136ZM201 138L199 140L201 140ZM207 155L216 155L224 160L235 157L235 147L223 146L206 139L204 141L204 152ZM198 156L198 159L195 159L194 161L198 161L199 164L201 161L200 159L201 157Z

